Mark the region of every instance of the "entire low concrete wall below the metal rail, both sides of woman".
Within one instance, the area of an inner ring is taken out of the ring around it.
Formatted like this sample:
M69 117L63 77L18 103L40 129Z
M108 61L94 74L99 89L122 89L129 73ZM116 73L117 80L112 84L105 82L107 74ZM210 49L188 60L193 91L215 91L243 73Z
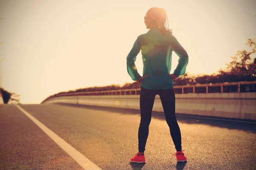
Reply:
M68 103L140 109L140 95L61 96L44 103ZM160 97L153 111L163 112ZM176 94L176 113L256 120L256 93Z

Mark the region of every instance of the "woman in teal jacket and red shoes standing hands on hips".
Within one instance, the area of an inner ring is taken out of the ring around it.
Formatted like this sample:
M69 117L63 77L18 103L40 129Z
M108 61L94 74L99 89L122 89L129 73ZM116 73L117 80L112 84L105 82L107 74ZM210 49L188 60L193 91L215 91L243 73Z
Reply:
M145 17L145 25L149 31L137 37L127 56L127 71L134 81L140 84L140 127L138 131L139 152L131 162L145 162L145 145L148 138L148 127L155 96L158 94L163 105L166 122L170 128L172 140L177 152L177 161L186 161L181 150L180 127L175 116L175 92L173 80L183 75L188 64L188 54L169 30L166 11L163 8L150 8ZM135 61L141 50L143 58L143 77L137 71ZM179 56L178 65L170 74L172 51Z

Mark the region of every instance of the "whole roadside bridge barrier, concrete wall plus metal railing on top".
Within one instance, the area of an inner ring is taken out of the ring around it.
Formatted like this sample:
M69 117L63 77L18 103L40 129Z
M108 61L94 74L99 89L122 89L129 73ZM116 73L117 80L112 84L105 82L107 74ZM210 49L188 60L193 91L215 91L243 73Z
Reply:
M256 120L256 82L175 86L175 112L201 116ZM192 89L192 90L191 90ZM245 93L248 92L248 93ZM140 110L140 89L58 94L44 104L92 105ZM160 96L153 110L163 112Z

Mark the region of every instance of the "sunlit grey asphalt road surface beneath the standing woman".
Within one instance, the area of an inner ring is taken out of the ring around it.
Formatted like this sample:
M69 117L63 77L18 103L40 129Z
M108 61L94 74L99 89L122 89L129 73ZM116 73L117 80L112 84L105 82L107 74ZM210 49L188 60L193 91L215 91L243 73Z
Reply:
M139 111L77 105L20 105L102 170L253 170L256 124L180 116L186 163L161 113L153 113L145 164L137 152ZM82 167L15 105L0 108L0 170L82 170Z

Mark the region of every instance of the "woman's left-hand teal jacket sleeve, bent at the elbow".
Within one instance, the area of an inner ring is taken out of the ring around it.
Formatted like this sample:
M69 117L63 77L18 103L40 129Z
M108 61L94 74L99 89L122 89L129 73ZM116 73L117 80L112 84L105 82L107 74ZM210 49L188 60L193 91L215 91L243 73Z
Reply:
M131 48L131 51L126 57L127 72L131 76L131 79L133 79L134 81L137 81L141 77L135 65L136 57L139 54L140 48L141 48L139 41L140 41L140 36L137 37L137 40L134 42L134 45Z

